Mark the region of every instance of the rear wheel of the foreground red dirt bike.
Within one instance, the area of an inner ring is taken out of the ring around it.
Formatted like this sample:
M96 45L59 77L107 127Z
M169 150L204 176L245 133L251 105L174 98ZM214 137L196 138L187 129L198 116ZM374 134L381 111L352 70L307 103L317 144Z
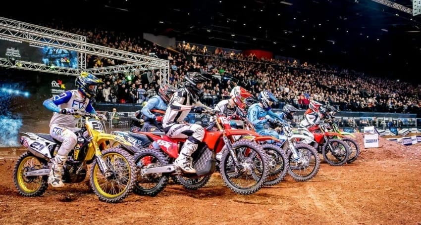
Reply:
M168 176L162 173L142 175L141 170L168 165L168 157L160 151L143 148L135 154L134 160L138 169L134 192L139 195L156 196L165 188Z

